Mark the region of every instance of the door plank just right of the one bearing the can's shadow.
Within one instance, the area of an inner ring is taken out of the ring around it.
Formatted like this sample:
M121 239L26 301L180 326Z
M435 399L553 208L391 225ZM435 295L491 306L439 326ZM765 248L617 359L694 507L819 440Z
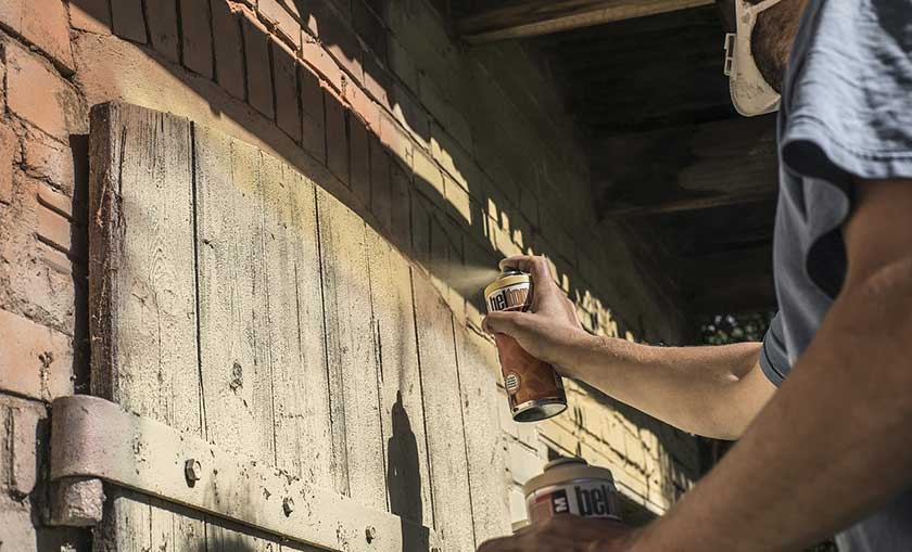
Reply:
M474 550L453 314L430 279L411 272L434 528L446 550Z

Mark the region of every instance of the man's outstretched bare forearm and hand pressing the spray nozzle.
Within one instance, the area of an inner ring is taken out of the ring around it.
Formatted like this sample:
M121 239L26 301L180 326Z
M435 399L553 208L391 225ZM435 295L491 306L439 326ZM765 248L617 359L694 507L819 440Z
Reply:
M502 266L532 273L531 312L492 313L485 328L516 337L531 355L554 363L618 400L681 429L735 439L773 395L759 365L759 343L715 347L650 347L587 334L541 257L510 257Z

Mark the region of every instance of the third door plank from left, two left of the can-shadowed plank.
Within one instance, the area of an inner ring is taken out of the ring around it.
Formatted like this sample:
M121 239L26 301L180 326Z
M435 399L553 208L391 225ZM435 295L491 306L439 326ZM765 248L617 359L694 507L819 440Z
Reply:
M314 185L269 156L263 177L276 461L328 487L332 437Z

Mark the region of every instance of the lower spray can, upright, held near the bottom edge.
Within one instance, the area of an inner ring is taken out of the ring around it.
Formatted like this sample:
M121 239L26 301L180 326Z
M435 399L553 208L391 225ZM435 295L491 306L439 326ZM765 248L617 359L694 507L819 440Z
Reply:
M621 521L621 509L611 472L581 458L559 458L522 486L529 523L558 514Z

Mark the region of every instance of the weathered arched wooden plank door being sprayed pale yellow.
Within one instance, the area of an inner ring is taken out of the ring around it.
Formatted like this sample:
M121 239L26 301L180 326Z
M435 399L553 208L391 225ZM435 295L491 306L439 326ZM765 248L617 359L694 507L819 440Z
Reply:
M490 344L423 271L294 168L186 118L105 104L90 142L93 394L446 550L508 530ZM107 493L97 550L313 550Z

